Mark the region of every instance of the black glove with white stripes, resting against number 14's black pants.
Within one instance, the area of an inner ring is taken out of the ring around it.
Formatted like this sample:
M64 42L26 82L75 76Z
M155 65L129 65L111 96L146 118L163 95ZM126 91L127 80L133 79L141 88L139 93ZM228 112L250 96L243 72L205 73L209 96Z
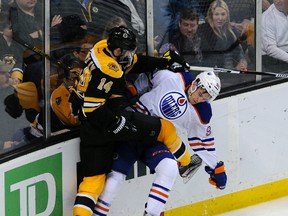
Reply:
M108 127L108 132L114 134L134 134L137 128L131 122L127 121L124 116L116 116L115 122Z

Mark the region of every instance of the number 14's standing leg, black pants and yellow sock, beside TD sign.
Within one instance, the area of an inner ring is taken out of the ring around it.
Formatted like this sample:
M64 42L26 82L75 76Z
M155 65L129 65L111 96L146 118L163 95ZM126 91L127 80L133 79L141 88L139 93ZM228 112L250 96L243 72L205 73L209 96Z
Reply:
M104 141L97 131L90 130L89 127L83 132L81 128L80 157L84 177L75 198L74 216L93 215L97 199L104 188L106 174L112 166L114 143Z

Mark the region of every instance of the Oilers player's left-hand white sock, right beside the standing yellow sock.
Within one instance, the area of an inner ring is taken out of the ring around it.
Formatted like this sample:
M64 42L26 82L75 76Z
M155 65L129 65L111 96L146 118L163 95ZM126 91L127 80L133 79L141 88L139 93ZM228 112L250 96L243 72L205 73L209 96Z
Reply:
M94 215L106 216L108 214L111 203L125 181L125 177L126 175L114 170L107 175L105 187L94 208Z

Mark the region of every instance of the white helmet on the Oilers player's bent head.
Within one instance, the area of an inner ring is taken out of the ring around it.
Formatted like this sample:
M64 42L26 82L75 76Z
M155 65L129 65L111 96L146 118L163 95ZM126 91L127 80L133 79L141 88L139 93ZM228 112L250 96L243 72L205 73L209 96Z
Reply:
M209 102L212 102L220 93L221 82L213 71L204 71L196 76L197 88L202 87L211 96Z

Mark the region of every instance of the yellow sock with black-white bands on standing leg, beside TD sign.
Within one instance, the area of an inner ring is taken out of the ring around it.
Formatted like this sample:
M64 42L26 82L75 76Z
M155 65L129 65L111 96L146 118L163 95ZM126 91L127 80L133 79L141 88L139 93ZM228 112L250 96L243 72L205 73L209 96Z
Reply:
M73 216L92 216L98 196L101 194L106 175L84 177L76 195Z

